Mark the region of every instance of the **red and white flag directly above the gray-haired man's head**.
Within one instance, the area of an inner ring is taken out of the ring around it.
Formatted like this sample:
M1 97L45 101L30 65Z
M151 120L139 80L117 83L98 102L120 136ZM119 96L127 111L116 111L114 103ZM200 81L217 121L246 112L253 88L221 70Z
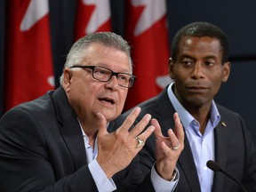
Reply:
M75 39L100 31L111 31L109 0L79 0Z

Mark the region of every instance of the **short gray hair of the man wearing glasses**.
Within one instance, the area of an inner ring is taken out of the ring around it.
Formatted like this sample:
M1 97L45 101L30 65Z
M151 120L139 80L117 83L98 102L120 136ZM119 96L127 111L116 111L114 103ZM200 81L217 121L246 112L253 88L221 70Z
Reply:
M114 47L117 50L125 52L130 61L130 68L132 73L132 57L131 46L124 40L122 36L116 35L113 32L98 32L83 36L72 45L68 52L67 60L64 68L71 68L77 63L81 63L84 60L84 51L91 44L102 44L107 47ZM60 76L60 84L63 81L63 72Z

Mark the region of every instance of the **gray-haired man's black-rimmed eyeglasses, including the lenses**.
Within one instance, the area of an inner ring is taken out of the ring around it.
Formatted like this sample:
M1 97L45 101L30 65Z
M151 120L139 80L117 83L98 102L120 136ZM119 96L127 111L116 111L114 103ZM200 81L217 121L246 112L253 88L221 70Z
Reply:
M100 82L108 82L112 76L116 76L117 84L124 87L129 88L132 87L132 84L134 83L136 76L132 76L128 73L116 73L112 71L109 68L103 68L100 66L80 66L75 65L71 68L90 68L92 69L92 77L94 79L97 79Z

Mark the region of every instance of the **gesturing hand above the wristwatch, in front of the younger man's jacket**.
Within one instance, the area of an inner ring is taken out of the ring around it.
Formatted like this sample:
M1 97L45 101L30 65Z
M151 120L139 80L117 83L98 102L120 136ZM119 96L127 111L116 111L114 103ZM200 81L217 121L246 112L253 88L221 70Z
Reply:
M184 132L178 113L173 115L173 119L174 132L169 129L169 137L164 137L156 119L151 120L151 124L155 126L156 136L156 172L165 180L172 179L172 172L184 148Z

